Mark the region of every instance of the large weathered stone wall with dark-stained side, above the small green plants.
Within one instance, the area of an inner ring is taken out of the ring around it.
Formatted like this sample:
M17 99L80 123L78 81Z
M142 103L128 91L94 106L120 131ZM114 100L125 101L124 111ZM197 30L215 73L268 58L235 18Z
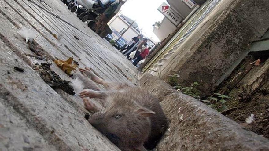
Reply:
M266 0L222 0L175 48L175 53L162 61L162 78L179 74L179 84L198 82L202 96L208 95L234 61L268 28Z

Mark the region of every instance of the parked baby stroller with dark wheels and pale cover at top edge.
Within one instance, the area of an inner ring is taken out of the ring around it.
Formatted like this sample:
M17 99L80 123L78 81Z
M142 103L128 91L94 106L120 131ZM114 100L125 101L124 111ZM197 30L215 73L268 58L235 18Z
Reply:
M94 20L97 16L104 13L110 4L116 0L72 0L68 9L71 12L77 11L77 16L82 22Z

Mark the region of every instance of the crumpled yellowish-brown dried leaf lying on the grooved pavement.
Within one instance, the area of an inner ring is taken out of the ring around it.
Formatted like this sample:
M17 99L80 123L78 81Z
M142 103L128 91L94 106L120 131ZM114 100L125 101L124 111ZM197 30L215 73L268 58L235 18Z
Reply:
M64 60L54 60L54 63L57 64L66 74L70 75L73 70L76 70L78 65L72 64L73 57L69 57L66 61Z

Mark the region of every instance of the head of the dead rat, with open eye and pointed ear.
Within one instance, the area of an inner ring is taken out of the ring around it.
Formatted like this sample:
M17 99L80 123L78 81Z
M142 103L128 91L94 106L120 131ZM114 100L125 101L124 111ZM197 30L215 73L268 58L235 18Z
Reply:
M149 136L149 117L155 113L139 106L134 99L126 93L112 94L108 96L108 106L89 119L120 149L143 145Z

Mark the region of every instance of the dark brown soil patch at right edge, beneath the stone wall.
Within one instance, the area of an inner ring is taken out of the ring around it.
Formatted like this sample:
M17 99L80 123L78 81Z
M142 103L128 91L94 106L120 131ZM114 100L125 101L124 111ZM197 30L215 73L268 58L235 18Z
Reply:
M269 138L269 71L260 69L268 66L268 57L259 52L249 54L216 90L232 97L226 105L234 110L226 112L225 116L265 138ZM254 65L257 59L260 59L259 66ZM263 76L256 77L257 73ZM253 77L256 81L251 83ZM255 122L247 124L245 120L251 114Z

